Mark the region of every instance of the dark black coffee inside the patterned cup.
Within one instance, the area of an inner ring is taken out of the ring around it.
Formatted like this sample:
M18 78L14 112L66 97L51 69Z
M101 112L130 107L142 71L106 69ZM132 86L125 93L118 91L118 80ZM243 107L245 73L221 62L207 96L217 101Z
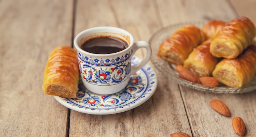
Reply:
M99 36L85 41L81 49L94 54L110 54L122 51L128 47L127 42L112 36Z

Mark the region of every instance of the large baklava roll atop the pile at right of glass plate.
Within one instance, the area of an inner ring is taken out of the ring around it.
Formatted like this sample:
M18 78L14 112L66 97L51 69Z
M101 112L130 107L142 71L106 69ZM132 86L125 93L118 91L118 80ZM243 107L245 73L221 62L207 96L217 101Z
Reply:
M210 45L215 57L236 58L248 45L253 43L256 29L247 17L238 17L225 24Z

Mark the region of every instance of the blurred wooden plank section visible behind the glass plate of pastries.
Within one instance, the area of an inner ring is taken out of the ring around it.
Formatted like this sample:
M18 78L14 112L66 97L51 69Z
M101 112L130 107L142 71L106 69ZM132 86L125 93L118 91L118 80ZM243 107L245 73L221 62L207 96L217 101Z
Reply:
M229 21L236 17L236 11L223 0L156 0L164 27L180 22L207 20Z

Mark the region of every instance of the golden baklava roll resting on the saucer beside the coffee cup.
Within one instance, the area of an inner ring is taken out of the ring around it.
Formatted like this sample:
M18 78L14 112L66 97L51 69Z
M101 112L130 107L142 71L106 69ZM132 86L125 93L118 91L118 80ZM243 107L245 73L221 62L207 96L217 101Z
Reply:
M48 57L43 79L47 95L76 97L79 82L79 64L76 51L69 46L58 46Z

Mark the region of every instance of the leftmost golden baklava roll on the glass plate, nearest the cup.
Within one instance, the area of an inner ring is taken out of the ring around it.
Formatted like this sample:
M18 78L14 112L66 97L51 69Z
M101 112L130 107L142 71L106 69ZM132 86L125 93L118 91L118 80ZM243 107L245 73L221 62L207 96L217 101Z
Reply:
M157 56L171 64L182 65L189 53L205 40L201 29L187 24L177 29L159 46Z

